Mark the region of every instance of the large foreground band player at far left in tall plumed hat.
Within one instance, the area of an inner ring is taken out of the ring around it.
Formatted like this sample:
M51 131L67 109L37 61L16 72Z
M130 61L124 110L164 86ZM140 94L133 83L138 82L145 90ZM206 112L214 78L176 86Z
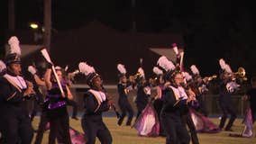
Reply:
M5 143L30 144L33 130L24 100L34 91L21 76L19 40L11 37L9 45L11 52L5 57L6 72L0 77L0 131L5 136Z

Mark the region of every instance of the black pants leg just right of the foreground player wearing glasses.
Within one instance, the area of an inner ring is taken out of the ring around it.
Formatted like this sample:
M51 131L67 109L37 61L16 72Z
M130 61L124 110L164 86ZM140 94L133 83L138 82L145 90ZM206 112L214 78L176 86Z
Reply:
M191 139L192 139L192 143L193 144L199 144L198 138L197 138L197 130L196 130L196 126L191 118L191 115L189 112L187 112L187 114L182 116L183 121L187 124L187 127L189 129L190 135L191 135Z

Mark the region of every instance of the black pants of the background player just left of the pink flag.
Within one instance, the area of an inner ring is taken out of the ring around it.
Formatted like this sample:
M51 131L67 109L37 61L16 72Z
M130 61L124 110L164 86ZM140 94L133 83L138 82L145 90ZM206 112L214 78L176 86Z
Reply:
M131 104L128 102L128 100L120 100L118 101L119 107L122 111L121 117L118 120L118 125L121 125L123 123L123 119L126 116L126 112L128 112L128 120L126 121L126 125L131 125L131 122L133 120L133 108Z

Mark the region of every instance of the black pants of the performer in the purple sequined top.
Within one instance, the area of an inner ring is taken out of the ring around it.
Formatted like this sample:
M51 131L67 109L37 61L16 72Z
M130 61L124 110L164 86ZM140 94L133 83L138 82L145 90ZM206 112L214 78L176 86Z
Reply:
M71 144L68 114L50 119L49 144L54 144L57 138L58 143Z

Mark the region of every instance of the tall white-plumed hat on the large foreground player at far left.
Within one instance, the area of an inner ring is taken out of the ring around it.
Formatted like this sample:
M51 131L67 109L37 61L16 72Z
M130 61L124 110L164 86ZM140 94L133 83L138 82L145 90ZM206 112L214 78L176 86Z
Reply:
M10 50L5 56L5 64L9 66L13 63L21 63L21 48L20 41L17 37L13 36L8 40Z

